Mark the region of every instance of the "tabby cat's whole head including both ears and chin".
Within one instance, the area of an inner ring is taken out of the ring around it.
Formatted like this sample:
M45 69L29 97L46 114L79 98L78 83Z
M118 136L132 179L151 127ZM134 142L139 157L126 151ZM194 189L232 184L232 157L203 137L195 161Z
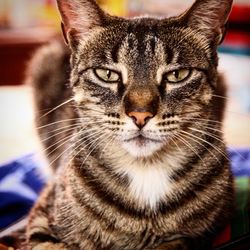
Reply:
M75 103L96 147L147 157L173 141L192 144L191 129L213 117L216 49L231 5L197 0L178 17L125 19L94 0L58 0Z

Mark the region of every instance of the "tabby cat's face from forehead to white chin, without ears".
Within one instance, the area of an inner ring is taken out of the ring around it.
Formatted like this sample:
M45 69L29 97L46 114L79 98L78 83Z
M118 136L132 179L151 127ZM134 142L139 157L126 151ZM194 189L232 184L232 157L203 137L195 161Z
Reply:
M92 128L132 155L152 155L190 118L209 112L211 59L207 44L174 21L135 19L97 30L74 62L80 116L98 121Z

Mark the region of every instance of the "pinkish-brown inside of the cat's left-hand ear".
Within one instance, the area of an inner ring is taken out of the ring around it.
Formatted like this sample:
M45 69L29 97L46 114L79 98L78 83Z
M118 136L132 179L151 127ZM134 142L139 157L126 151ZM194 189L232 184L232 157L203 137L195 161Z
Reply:
M94 27L102 26L106 14L95 0L57 0L66 43L77 40Z

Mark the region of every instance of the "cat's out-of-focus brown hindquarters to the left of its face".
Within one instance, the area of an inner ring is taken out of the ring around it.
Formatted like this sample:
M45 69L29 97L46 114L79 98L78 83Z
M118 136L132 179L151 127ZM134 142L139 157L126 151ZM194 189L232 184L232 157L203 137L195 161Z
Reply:
M60 39L50 45L40 48L33 56L27 71L26 84L34 89L34 103L36 106L37 132L46 149L45 153L54 168L58 166L63 147L54 145L56 141L70 135L67 131L55 135L56 129L70 126L75 115L69 105L57 112L50 112L52 107L60 105L72 96L69 88L70 51ZM58 121L65 120L63 123ZM54 124L51 124L54 123ZM51 124L51 126L47 126ZM60 130L58 131L58 133ZM53 146L54 145L54 146Z

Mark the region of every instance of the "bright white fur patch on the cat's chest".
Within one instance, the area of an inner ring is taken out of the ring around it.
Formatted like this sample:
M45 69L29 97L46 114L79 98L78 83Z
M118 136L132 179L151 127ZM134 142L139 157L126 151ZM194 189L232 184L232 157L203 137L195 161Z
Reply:
M180 169L180 161L170 163L124 163L118 171L128 178L130 197L141 207L155 209L157 204L174 195L175 182L171 179L173 172Z

